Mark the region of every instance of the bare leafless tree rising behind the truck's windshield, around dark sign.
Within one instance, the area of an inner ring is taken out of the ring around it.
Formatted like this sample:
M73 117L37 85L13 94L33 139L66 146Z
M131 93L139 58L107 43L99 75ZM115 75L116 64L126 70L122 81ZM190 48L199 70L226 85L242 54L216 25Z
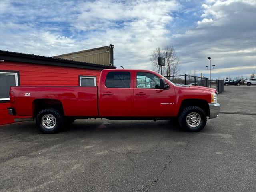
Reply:
M165 58L165 66L163 66L163 76L174 76L179 73L180 58L177 56L172 46L166 46L162 50L158 47L152 53L150 58L153 70L160 73L161 66L158 65L158 57Z

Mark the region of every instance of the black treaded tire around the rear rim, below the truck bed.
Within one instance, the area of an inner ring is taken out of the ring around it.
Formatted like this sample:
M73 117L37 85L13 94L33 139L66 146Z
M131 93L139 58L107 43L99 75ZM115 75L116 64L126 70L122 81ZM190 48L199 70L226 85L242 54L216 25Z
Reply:
M42 125L41 125L41 118L40 116L44 113L52 113L55 118L56 118L56 127L54 128L54 130L51 130L51 131L45 131L43 128L42 128ZM57 133L60 131L60 129L62 128L62 126L64 125L64 117L63 115L58 111L56 110L55 108L45 108L43 110L41 110L40 112L38 112L38 114L36 115L36 126L38 127L38 129L43 132L44 134L54 134L54 133Z

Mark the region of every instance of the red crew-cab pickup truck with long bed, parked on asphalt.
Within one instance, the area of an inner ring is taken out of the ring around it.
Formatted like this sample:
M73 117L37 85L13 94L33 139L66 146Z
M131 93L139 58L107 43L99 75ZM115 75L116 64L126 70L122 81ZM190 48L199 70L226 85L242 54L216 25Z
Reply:
M161 120L175 118L187 131L200 131L207 116L219 114L213 88L176 86L150 70L102 70L98 86L14 86L10 88L10 115L16 121L36 120L51 134L77 118ZM29 116L29 118L27 118Z

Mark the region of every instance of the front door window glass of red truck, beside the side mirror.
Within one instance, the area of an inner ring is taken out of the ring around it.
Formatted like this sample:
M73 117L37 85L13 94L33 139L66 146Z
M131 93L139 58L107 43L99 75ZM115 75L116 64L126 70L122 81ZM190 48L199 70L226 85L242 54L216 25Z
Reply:
M159 89L160 78L152 73L137 72L136 88Z

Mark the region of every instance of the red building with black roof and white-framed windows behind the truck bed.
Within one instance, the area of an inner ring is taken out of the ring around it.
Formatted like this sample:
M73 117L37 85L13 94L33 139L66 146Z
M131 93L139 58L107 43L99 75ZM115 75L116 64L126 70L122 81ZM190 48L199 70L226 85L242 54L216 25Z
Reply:
M10 86L97 86L114 66L0 50L0 125L14 122L6 108Z

